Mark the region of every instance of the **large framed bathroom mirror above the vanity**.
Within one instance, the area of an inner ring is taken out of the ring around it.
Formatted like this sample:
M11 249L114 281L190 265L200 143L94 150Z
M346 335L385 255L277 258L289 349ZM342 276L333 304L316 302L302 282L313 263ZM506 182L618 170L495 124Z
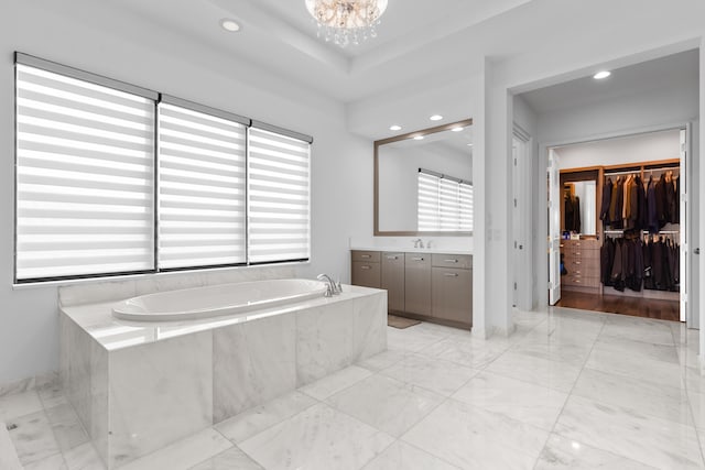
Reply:
M375 142L375 236L473 233L471 124Z

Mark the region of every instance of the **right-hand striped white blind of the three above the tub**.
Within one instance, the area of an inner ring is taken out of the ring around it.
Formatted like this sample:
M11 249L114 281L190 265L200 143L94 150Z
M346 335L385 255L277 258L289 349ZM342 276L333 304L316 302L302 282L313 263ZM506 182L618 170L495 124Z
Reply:
M308 142L250 128L249 261L310 258Z

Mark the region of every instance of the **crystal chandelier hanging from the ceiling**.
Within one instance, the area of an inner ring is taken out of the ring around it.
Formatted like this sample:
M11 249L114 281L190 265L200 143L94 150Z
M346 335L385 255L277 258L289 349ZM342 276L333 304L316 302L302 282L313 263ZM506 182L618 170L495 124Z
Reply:
M388 0L306 0L308 13L318 23L318 37L340 47L377 37L376 26Z

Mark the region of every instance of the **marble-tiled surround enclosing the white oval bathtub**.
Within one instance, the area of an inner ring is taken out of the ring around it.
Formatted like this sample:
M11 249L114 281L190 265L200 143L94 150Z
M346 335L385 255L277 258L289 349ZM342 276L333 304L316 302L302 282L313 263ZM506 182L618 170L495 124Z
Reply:
M109 469L387 348L387 293L366 287L176 323L118 320L112 304L61 314L66 395Z

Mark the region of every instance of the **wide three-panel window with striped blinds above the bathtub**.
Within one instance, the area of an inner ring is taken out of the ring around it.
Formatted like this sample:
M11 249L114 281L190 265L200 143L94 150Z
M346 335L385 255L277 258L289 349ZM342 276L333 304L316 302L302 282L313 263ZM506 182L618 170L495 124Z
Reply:
M15 282L308 260L311 138L15 59Z

